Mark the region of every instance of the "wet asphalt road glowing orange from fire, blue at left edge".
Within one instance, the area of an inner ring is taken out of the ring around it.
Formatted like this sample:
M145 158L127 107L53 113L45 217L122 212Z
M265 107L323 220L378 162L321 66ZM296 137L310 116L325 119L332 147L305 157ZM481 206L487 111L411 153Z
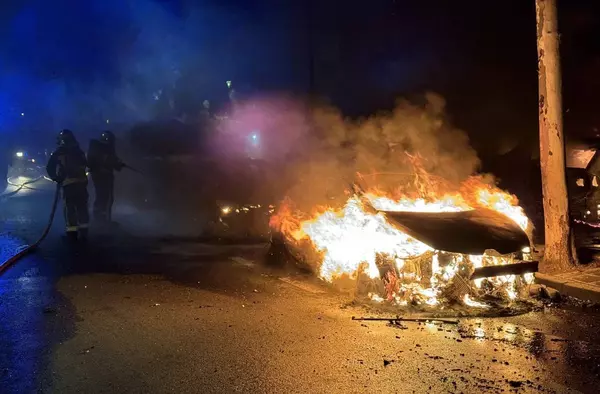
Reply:
M0 202L3 253L41 231L51 187ZM62 218L0 277L2 393L584 392L600 385L600 313L549 306L460 324L372 315L268 245L127 228L73 248Z

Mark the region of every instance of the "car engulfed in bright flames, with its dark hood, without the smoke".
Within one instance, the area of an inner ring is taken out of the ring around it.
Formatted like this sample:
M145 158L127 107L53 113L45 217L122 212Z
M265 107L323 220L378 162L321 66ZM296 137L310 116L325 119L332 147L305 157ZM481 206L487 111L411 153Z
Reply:
M343 207L312 214L288 200L271 225L324 281L350 281L358 295L399 306L510 303L536 270L513 265L530 259L530 224L516 198L479 177L422 197L353 188Z

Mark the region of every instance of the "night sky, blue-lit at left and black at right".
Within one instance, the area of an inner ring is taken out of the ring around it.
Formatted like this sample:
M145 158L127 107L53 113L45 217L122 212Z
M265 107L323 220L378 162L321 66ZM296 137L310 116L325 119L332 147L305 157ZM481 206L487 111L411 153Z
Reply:
M569 136L600 127L597 3L559 1ZM534 0L11 0L1 7L4 131L146 120L153 93L178 78L207 98L222 95L231 79L248 94L326 96L354 116L436 91L482 155L537 144Z

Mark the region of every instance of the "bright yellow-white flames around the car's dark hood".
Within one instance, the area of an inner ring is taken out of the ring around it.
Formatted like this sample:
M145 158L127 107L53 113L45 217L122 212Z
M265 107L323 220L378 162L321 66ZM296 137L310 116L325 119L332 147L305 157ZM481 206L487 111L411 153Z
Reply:
M529 220L516 197L480 178L470 178L454 193L411 197L374 189L362 196L350 195L340 209L321 208L310 217L294 212L293 202L288 200L271 224L289 243L316 253L320 259L318 274L323 280L333 282L344 276L359 280L365 275L381 280L383 292L369 296L377 302L385 299L399 305L410 302L433 306L442 299L454 298L464 305L484 308L487 305L473 300L473 295L491 293L514 300L519 285L531 283L531 276L514 275L465 280L460 272L508 264L514 255L473 256L435 250L391 225L386 214L380 212L460 212L484 207L504 214L527 230ZM451 297L453 294L455 297Z

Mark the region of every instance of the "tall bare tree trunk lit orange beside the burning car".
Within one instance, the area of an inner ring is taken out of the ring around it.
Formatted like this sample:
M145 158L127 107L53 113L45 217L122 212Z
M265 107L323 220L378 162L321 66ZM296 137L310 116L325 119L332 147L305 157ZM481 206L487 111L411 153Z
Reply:
M574 263L565 173L561 74L556 0L536 0L539 127L545 253L541 270L567 270Z

